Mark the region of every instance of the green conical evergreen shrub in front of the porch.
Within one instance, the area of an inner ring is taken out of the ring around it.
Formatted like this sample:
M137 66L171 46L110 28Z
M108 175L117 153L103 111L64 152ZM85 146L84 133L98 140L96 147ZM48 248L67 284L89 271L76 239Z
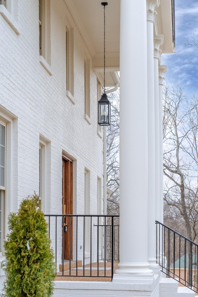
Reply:
M5 241L5 297L49 297L53 294L55 264L47 222L39 196L24 199L17 213L10 213L10 234Z

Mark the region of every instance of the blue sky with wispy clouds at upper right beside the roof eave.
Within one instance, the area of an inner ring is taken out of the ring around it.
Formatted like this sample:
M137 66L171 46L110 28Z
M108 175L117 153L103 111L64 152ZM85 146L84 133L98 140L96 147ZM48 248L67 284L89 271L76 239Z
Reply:
M198 48L184 45L194 34L198 35L198 1L175 0L176 53L163 54L161 65L167 65L166 83L179 82L188 96L198 95L198 57L191 56L198 56Z

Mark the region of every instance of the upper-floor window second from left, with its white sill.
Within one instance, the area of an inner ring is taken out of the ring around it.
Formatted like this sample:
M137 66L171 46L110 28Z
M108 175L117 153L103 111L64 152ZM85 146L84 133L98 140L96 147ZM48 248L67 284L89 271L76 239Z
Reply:
M39 0L39 54L41 65L52 75L49 0Z

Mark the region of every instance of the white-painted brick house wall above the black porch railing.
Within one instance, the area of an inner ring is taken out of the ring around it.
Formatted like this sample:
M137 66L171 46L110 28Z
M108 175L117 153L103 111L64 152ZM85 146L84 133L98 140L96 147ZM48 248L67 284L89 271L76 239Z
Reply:
M2 106L17 117L12 139L13 196L8 197L11 211L18 209L23 198L38 193L42 135L49 140L46 212L62 213L64 151L75 160L74 213L84 213L86 167L90 170L90 213L97 214L97 177L103 181L103 140L97 134L97 78L92 57L64 1L51 1L53 75L49 75L40 63L38 1L15 1L14 15L20 35L0 14L0 109ZM66 17L74 30L75 105L66 96ZM84 118L84 52L90 60L91 125ZM101 186L103 196L103 182Z

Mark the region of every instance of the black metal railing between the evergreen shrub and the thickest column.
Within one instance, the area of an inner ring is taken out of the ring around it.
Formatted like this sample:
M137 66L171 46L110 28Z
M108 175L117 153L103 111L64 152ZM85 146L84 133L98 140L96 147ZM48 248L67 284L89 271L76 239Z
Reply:
M57 276L113 278L119 216L45 215Z

